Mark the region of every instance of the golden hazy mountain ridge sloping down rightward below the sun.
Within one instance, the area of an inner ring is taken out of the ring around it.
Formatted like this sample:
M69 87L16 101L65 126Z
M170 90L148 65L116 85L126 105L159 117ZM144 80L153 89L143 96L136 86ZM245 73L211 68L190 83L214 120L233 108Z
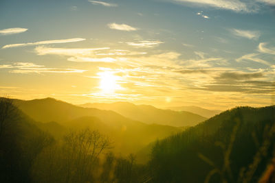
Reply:
M53 136L63 136L70 129L80 130L89 127L109 136L114 143L114 151L122 154L135 153L157 139L182 131L181 127L146 124L128 119L111 110L82 108L52 98L13 101L32 119L43 122L44 125L39 127Z

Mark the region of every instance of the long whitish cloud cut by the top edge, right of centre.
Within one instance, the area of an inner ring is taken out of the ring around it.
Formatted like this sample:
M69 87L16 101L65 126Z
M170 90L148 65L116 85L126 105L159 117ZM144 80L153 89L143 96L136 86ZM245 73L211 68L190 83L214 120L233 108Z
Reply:
M189 3L190 5L196 5L200 7L212 7L224 10L232 10L234 12L254 12L250 10L248 5L239 0L173 0L176 3Z

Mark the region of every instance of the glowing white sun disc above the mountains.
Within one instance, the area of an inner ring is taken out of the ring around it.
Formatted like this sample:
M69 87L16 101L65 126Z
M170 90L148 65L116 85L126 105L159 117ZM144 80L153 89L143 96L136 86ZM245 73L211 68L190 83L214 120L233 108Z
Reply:
M111 71L104 71L102 73L98 73L100 75L100 86L99 88L102 90L102 93L115 93L115 90L120 88L118 85L118 76L113 75Z

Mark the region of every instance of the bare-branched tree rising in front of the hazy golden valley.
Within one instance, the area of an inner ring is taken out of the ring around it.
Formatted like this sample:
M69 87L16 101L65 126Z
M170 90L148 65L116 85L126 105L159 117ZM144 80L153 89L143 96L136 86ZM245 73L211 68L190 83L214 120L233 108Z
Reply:
M82 181L91 178L91 171L100 154L111 149L109 138L98 131L89 129L79 132L69 132L64 137L65 151L67 151L67 182ZM74 179L72 180L72 176Z

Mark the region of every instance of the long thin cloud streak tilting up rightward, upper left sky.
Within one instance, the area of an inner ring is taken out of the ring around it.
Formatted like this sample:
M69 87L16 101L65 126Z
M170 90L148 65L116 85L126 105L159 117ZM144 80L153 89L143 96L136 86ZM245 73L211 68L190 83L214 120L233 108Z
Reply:
M33 46L33 45L49 45L49 44L59 44L59 43L67 43L67 42L78 42L83 40L86 40L86 39L72 38L72 39L61 39L61 40L43 40L39 42L27 42L27 43L5 45L2 47L2 49L12 48L12 47L26 47L26 46Z

